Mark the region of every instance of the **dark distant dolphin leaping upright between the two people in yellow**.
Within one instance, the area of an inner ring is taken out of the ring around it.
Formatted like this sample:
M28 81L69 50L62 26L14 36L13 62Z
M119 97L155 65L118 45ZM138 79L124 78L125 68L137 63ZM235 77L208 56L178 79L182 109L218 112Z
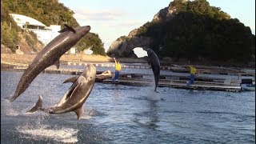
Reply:
M158 86L158 81L160 77L160 62L157 54L155 54L153 50L147 49L146 52L148 55L148 62L154 73L154 84L155 84L154 91L157 92L157 86Z

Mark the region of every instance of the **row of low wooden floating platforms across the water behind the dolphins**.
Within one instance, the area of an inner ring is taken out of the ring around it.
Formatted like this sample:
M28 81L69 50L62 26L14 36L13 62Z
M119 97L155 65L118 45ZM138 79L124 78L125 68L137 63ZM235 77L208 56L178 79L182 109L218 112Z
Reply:
M24 71L27 65L20 64L15 65L13 62L2 62L7 65L14 65L13 69L15 71ZM95 65L100 66L100 65ZM136 68L136 67L134 67ZM50 66L43 70L42 73L48 74L82 74L83 70L77 69L56 69L54 66ZM97 75L102 74L102 71L97 71ZM106 84L119 84L119 85L130 85L130 86L154 86L154 76L150 74L120 74L120 79L118 82L113 82L111 78L114 74L96 77L96 82L102 82ZM206 78L206 77L196 77L194 81L194 86L187 86L186 82L189 76L177 76L177 75L161 75L158 82L159 87L174 87L190 90L224 90L224 91L241 91L241 86L237 79L229 78Z

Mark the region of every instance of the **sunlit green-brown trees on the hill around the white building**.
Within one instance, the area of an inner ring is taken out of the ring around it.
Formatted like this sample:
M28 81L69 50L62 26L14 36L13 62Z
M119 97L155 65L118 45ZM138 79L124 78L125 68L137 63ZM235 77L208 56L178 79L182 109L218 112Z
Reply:
M68 7L64 6L62 3L59 3L57 0L2 0L1 4L5 5L7 9L10 10L10 13L15 14L24 14L28 17L37 19L38 21L44 23L46 26L50 25L61 25L64 28L64 24L69 26L77 27L79 26L76 19L73 17L74 11L70 10ZM7 14L8 15L8 14ZM5 19L5 18L3 18ZM2 22L2 6L1 6L1 22ZM86 34L89 35L86 38L82 38L79 43L76 45L78 50L88 49L90 46L94 46L93 50L96 50L94 54L105 54L103 48L102 40L93 33ZM92 37L92 38L90 38ZM34 38L34 37L32 37ZM34 41L26 37L30 43ZM90 39L91 41L88 41Z

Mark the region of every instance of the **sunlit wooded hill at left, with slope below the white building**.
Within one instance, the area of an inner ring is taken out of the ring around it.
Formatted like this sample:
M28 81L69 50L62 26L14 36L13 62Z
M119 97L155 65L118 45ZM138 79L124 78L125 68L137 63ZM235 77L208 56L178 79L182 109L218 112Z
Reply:
M4 13L2 13L2 11ZM59 3L58 0L40 0L40 1L2 0L1 1L1 27L2 25L7 24L7 26L4 26L4 27L6 27L6 30L8 30L8 25L11 22L12 26L15 26L13 31L18 30L17 32L20 32L20 34L22 34L22 30L20 30L19 28L16 28L17 25L12 20L12 18L8 16L10 13L23 14L23 15L29 16L31 18L37 19L38 21L44 23L46 26L61 25L62 28L64 27L64 24L67 24L73 27L79 26L78 22L73 17L74 12L70 10L68 7L64 6L62 3ZM20 42L20 38L18 38L18 33L16 34L15 32L12 32L10 33L10 35L14 37L14 40L12 40L11 43L15 44ZM30 39L36 40L38 42L37 38L33 37ZM2 41L2 37L1 37L2 45L9 47L13 51L16 49L15 46L10 46L7 43L8 42ZM103 42L99 38L98 34L94 34L94 33L86 34L86 36L83 37L76 44L75 47L78 48L78 51L91 48L91 50L94 51L93 54L106 55L103 47Z

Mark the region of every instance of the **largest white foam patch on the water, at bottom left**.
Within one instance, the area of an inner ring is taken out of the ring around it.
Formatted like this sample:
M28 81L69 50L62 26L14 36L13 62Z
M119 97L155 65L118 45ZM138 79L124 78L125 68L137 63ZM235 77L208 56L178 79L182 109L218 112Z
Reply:
M25 138L44 139L50 138L57 142L74 143L78 142L78 130L72 128L57 129L50 128L47 125L35 126L18 126L19 133L27 134Z

